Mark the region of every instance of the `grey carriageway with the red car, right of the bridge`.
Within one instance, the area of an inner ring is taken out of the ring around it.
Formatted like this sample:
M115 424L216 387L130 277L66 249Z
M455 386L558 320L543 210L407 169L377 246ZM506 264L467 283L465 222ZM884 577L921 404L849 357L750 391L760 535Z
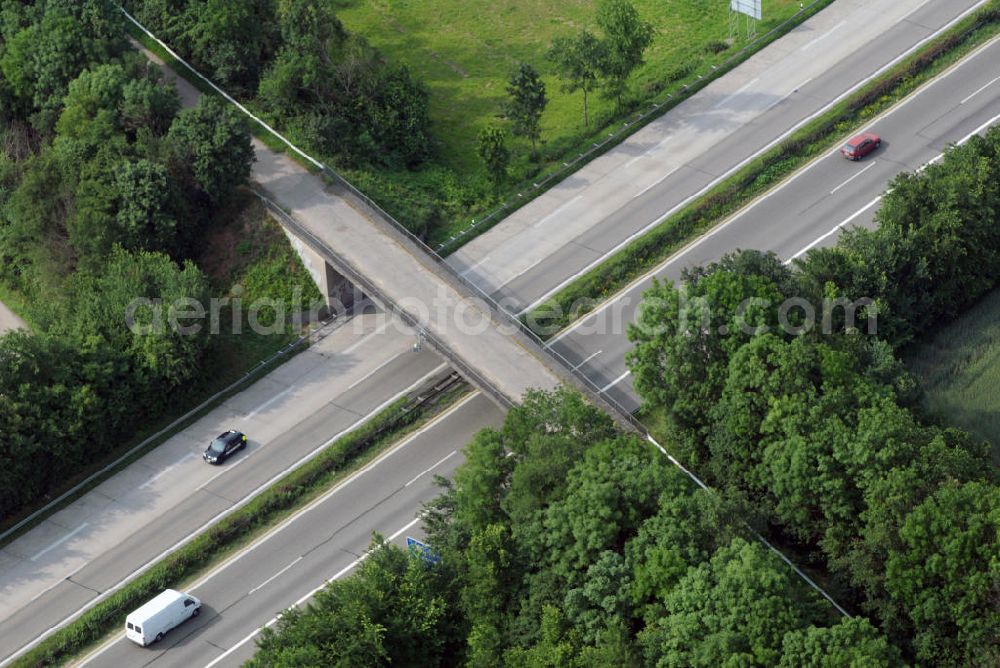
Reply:
M861 162L833 150L670 257L653 272L560 333L549 345L612 399L630 410L639 401L625 367L625 336L653 277L676 280L685 267L717 260L738 248L774 251L784 260L813 244L832 244L845 224L872 222L879 196L903 171L921 168L946 146L985 130L1000 116L1000 42L980 49L866 129L882 147ZM866 295L854 296L854 299Z

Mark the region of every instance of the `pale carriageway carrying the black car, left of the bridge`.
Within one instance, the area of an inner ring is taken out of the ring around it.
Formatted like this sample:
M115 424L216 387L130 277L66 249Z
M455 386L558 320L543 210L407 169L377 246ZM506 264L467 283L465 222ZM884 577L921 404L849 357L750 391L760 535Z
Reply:
M0 657L65 619L409 388L448 373L369 312L182 429L0 550ZM201 459L230 427L249 446Z

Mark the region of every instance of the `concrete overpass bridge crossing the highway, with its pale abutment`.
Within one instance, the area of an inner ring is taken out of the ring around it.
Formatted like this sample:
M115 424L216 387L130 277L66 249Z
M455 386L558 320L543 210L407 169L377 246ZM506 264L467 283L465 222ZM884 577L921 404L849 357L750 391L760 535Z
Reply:
M519 323L332 173L313 173L254 140L251 179L336 310L359 294L417 329L505 407L530 388L587 388Z

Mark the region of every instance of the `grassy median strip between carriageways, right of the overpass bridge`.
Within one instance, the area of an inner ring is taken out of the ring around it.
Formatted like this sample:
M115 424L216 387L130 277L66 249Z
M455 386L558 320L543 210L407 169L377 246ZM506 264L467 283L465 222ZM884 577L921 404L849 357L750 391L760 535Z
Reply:
M522 320L540 337L553 336L998 32L1000 0L994 0L571 282Z

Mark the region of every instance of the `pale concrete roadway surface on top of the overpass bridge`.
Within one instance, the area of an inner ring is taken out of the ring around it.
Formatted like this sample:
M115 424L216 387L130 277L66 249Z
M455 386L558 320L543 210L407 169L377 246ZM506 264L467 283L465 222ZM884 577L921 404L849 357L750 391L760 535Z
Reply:
M154 54L143 52L162 67ZM194 104L197 89L167 68L164 71L184 104ZM346 266L368 279L372 290L359 287L369 297L387 300L391 304L386 308L395 304L408 313L448 348L448 354L473 369L488 390L517 401L530 388L552 389L566 379L568 374L537 347L497 326L497 314L488 304L400 232L356 208L354 200L328 187L322 175L309 172L286 153L277 153L256 138L253 147L257 159L250 180L322 244L313 250L338 271L344 272Z

